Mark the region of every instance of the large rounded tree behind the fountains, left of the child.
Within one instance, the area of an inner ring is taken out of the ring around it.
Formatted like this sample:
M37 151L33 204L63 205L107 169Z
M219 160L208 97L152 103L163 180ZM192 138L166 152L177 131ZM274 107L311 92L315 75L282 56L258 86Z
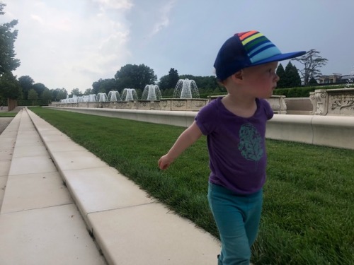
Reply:
M115 73L114 77L118 81L120 90L123 88L144 90L145 86L153 85L157 80L154 70L144 64L126 64Z

